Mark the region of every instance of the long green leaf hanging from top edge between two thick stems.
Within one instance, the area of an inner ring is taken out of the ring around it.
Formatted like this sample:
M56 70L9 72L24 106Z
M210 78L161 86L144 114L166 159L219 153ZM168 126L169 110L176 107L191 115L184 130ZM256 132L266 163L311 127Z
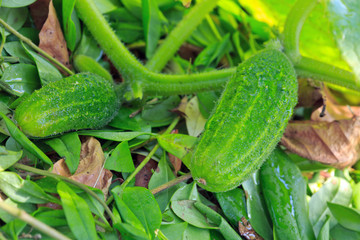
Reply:
M142 0L142 19L146 42L146 57L154 54L161 32L161 20L156 0Z

